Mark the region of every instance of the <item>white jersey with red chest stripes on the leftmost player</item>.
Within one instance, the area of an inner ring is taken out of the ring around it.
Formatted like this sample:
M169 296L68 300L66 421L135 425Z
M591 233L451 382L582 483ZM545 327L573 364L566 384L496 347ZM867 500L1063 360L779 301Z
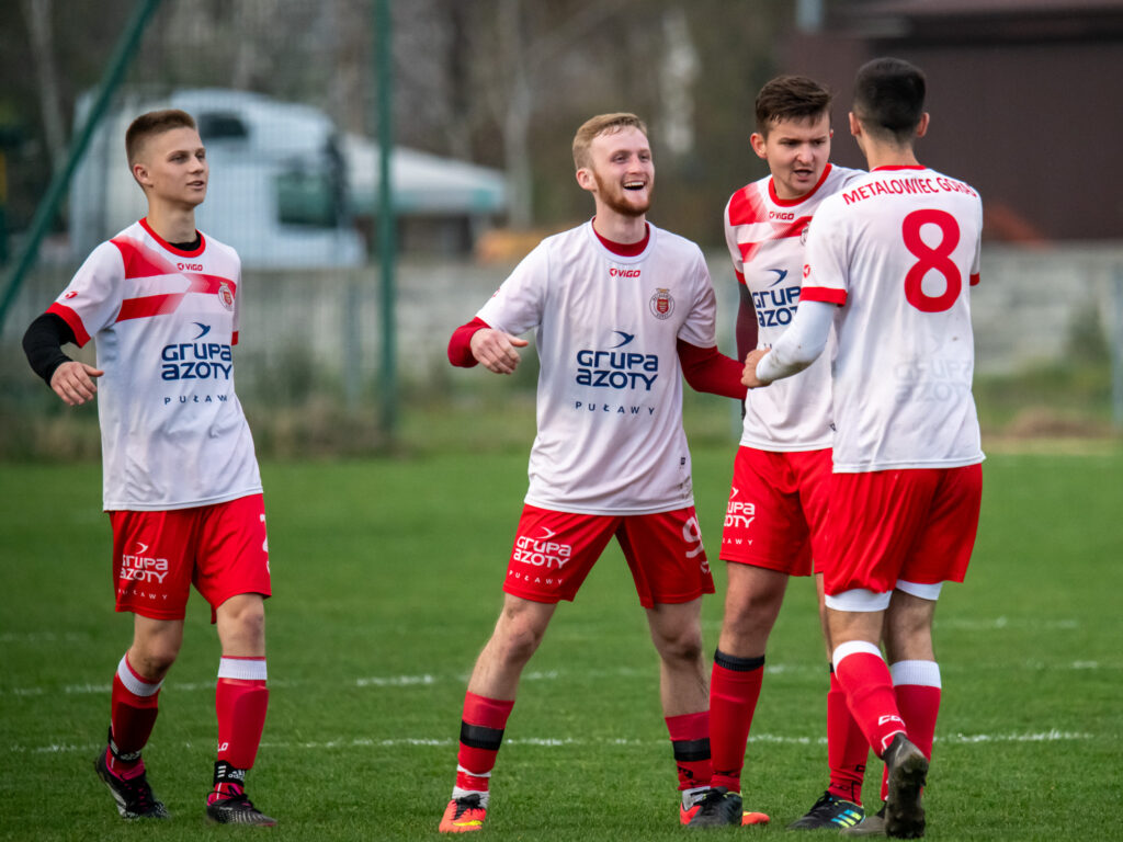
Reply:
M47 312L98 348L103 504L162 511L257 494L234 393L241 264L200 234L191 251L140 220L93 250Z

